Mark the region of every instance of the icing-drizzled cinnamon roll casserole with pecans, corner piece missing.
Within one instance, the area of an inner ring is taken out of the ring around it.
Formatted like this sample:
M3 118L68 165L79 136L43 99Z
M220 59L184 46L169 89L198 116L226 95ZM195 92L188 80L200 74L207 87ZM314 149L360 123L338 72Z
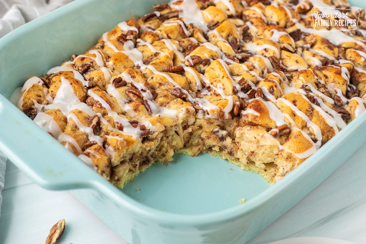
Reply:
M345 0L154 5L28 79L18 107L120 188L174 153L201 152L275 183L365 110L365 11L357 30L318 32L317 6L350 8Z

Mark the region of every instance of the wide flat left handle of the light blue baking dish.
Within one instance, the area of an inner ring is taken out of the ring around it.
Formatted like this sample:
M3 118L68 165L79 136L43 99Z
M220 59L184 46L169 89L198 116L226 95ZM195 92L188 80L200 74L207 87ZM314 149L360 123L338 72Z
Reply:
M35 183L47 189L90 188L104 181L36 123L30 123L1 94L0 150Z

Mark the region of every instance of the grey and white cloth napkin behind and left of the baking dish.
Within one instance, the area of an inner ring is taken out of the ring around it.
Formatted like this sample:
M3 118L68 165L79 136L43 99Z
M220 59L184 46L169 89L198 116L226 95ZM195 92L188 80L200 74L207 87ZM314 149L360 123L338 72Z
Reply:
M73 0L0 0L0 38L25 23ZM0 151L0 207L7 158Z

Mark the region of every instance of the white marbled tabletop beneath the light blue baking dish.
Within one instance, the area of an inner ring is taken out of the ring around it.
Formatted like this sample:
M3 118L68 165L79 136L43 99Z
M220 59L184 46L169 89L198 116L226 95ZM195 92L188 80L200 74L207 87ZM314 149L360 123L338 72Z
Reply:
M44 243L49 229L61 218L66 219L66 229L59 244L126 243L70 192L42 189L8 161L0 244ZM366 243L366 144L248 243L298 236Z

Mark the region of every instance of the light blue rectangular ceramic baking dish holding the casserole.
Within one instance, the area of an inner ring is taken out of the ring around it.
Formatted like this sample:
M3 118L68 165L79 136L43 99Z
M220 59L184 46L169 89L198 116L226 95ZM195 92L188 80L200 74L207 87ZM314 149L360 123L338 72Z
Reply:
M171 164L153 165L120 190L8 101L29 76L85 52L117 23L161 2L77 0L0 39L0 150L42 187L72 189L131 244L245 243L366 141L366 113L272 186L219 158L176 155ZM246 202L238 203L241 198Z

